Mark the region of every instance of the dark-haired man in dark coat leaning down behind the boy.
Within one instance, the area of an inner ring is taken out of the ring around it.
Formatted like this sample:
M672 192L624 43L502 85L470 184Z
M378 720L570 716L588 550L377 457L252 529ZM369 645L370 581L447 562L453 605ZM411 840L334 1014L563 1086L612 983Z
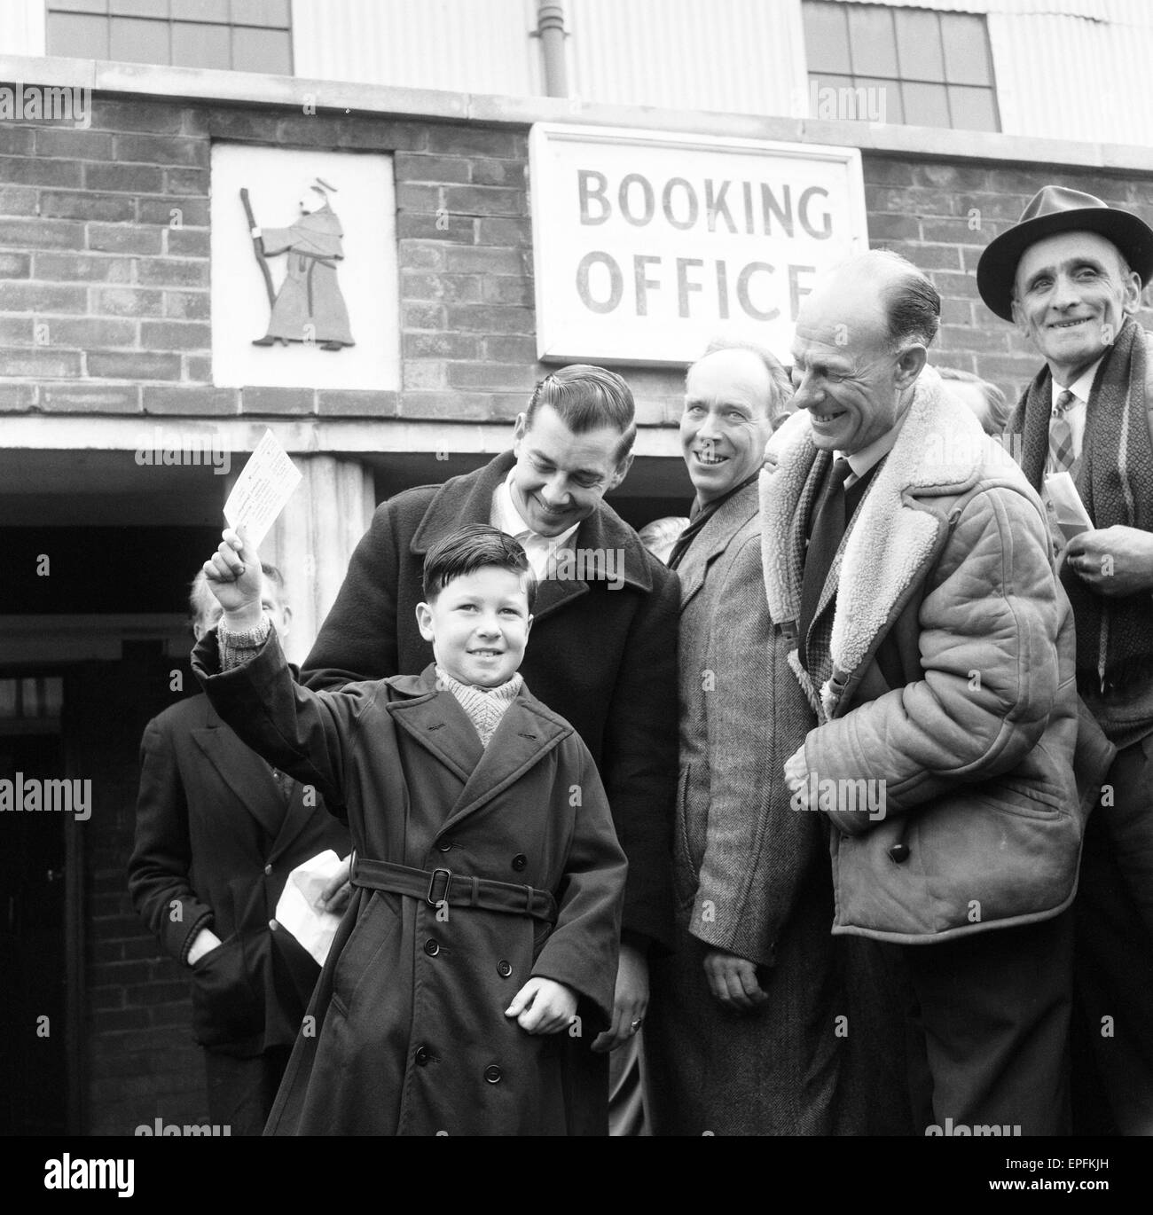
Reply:
M628 471L634 436L618 375L576 364L547 377L516 419L511 452L377 508L303 668L310 688L423 669L433 655L416 605L428 549L469 522L521 541L541 580L525 680L588 746L628 858L601 1051L639 1029L648 954L671 944L673 926L677 578L603 501Z

